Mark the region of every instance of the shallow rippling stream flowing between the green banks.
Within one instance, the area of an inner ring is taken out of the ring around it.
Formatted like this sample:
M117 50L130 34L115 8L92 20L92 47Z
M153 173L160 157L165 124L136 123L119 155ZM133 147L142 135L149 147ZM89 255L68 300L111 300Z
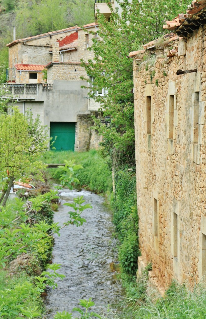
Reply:
M55 235L53 263L62 265L60 273L66 278L58 280L58 288L48 289L46 307L53 319L57 311L72 312L79 299L95 302L93 311L106 311L107 305L120 303L123 291L116 279L117 241L112 237L112 213L104 205L104 198L82 190L63 190L60 194L61 205L55 212L54 222L63 225L69 218L69 206L72 198L84 195L85 203L92 209L86 209L82 217L86 219L83 226L68 226L61 230L61 236Z

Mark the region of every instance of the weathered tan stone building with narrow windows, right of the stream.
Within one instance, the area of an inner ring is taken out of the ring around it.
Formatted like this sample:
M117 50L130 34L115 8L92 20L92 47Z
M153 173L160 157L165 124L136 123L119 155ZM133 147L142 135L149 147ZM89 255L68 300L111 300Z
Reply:
M133 57L138 258L164 294L206 275L206 0Z

